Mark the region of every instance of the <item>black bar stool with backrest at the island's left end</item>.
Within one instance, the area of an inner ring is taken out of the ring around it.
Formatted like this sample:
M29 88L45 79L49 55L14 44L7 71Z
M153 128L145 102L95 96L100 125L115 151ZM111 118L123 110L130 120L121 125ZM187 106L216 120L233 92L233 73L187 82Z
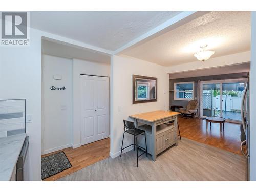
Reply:
M131 144L129 146L133 145L133 151L135 150L135 146L136 146L136 151L137 151L137 167L139 167L138 158L140 156L142 156L144 153L146 153L146 156L147 156L147 146L146 146L146 148L143 148L143 147L138 145L138 135L141 134L141 135L145 136L145 145L146 145L146 132L144 130L140 130L140 129L135 128L134 122L123 120L123 124L124 124L123 138L124 138L124 133L129 133L129 134L133 135L133 144ZM136 144L135 144L135 136L136 136ZM127 148L129 146L126 146L126 147L123 148L123 140L122 140L122 147L121 147L120 157L122 157L122 150L124 150L125 148ZM140 148L142 151L144 151L139 156L138 156L138 148Z

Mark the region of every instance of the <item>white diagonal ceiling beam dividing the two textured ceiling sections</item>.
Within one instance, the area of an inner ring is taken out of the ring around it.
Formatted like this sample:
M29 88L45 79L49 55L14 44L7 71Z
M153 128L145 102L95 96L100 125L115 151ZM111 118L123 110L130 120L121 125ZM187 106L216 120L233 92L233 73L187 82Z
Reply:
M122 51L131 49L133 46L142 44L143 42L150 40L157 35L161 35L167 31L176 29L191 20L202 16L206 14L208 11L183 11L179 13L178 15L168 19L166 22L162 23L161 25L155 27L154 29L144 33L143 35L135 38L134 40L128 42L124 46L118 48L117 50L114 51L114 54L121 54Z

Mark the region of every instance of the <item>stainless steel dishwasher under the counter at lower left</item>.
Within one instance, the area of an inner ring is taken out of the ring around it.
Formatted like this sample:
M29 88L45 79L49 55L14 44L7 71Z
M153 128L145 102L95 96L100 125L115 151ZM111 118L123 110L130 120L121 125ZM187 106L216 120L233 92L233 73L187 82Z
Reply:
M16 164L16 181L28 181L29 175L29 137L26 137Z

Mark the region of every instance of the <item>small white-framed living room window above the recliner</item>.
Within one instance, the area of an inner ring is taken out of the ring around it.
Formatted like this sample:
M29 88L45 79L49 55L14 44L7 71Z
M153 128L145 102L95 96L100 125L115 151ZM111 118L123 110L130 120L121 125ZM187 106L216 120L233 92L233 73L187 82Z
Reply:
M174 100L194 100L194 82L174 83Z

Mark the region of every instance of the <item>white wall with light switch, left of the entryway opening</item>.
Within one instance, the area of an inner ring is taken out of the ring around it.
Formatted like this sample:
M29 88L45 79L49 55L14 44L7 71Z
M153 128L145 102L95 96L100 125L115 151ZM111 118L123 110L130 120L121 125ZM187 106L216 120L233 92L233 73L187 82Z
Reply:
M0 99L26 99L30 180L41 180L41 32L30 29L30 46L0 47Z

